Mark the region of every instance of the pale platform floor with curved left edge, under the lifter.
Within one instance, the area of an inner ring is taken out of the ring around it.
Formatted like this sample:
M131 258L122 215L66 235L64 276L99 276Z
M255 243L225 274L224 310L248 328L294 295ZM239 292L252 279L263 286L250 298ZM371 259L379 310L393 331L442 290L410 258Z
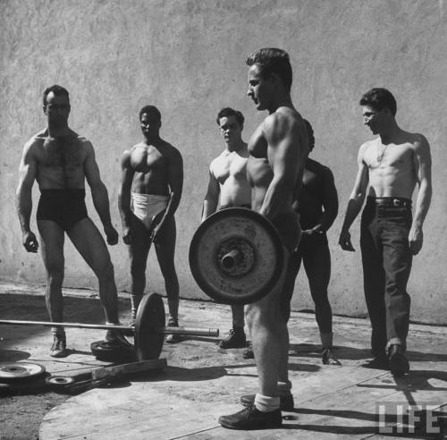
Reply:
M211 313L211 312L210 312ZM212 313L214 314L214 313ZM215 316L218 317L219 313ZM443 329L413 326L409 341L412 371L395 379L389 372L365 368L369 359L367 321L336 318L337 343L343 366L321 364L313 319L293 314L291 381L295 410L283 412L283 427L241 432L224 429L219 416L240 410L239 396L256 389L253 361L240 350L219 351L214 344L185 341L189 357L207 351L207 367L181 367L173 360L164 374L113 389L96 389L51 410L40 427L41 440L53 439L307 439L381 438L376 402L426 404L447 412L447 344ZM216 322L213 320L213 322ZM225 328L221 326L221 328ZM190 360L190 359L189 359ZM392 410L388 409L390 414ZM408 421L408 420L407 420ZM397 416L382 429L408 432ZM385 432L385 431L384 431ZM386 438L393 438L386 432ZM407 438L425 438L417 432Z

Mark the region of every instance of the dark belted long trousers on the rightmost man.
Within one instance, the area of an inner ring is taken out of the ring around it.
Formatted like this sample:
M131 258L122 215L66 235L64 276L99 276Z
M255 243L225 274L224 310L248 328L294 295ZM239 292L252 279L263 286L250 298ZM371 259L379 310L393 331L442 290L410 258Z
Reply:
M367 199L361 218L360 248L365 299L372 326L371 348L375 357L384 356L393 343L406 348L411 222L410 200Z

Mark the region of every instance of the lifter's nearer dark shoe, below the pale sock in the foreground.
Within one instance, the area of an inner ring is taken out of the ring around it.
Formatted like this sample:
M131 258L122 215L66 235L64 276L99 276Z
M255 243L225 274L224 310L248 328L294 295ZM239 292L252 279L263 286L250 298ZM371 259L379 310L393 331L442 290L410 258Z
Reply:
M282 427L283 418L279 408L272 412L261 412L255 405L250 405L229 416L219 417L219 423L229 429L272 429Z

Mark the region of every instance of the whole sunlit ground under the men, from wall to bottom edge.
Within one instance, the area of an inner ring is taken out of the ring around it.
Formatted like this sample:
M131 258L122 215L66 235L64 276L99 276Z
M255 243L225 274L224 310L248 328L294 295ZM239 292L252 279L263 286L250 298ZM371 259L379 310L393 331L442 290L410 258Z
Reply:
M0 283L0 318L46 320L43 292L41 286ZM103 322L95 292L66 289L64 294L66 321ZM120 310L125 323L126 293L120 294ZM229 308L212 302L181 300L180 318L182 326L217 327L221 335L231 324ZM75 396L48 391L41 381L13 388L0 384L0 439L445 438L446 327L410 326L411 371L401 378L365 367L371 359L367 319L334 317L342 367L322 365L314 315L292 312L289 328L295 409L283 412L282 429L220 427L218 417L239 410L240 395L255 390L255 364L243 360L242 350L219 349L216 338L184 337L181 343L164 344L161 357L168 367L162 373L128 377ZM47 327L0 326L0 361L35 362L48 375L107 365L89 351L89 343L102 339L104 331L66 332L70 355L54 360L48 354ZM414 429L417 419L408 410L416 404L428 410ZM382 408L385 419L377 415Z

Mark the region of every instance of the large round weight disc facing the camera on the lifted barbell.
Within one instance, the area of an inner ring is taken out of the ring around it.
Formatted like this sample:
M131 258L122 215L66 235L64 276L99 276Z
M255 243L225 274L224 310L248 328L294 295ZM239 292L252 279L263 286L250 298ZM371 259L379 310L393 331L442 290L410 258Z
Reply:
M271 292L283 270L274 225L251 209L209 216L190 243L190 269L200 289L223 304L249 304Z

